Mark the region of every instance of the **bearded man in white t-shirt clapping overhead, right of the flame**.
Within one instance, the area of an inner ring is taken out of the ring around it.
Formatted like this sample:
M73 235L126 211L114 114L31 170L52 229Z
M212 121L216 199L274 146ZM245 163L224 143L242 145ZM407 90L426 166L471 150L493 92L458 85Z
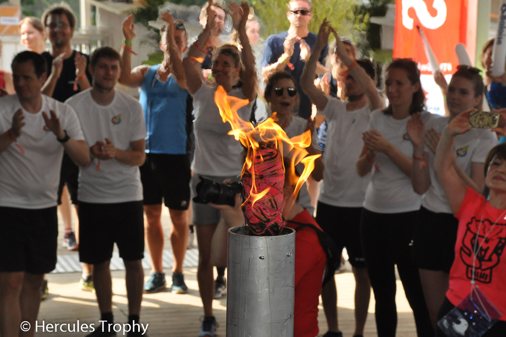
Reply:
M334 240L339 250L346 247L355 276L355 333L362 336L369 308L370 284L360 241L360 216L364 203L368 177L357 174L355 163L364 142L362 132L367 129L371 111L383 107L374 84L375 70L369 60L355 60L346 52L343 42L336 36L336 53L347 66L344 74L342 101L326 96L313 82L320 51L326 45L330 28L322 24L316 45L301 77L302 90L316 105L319 114L328 123L325 147L324 184L318 201L318 224ZM329 331L325 337L342 337L337 324L337 291L332 280L322 289L323 306Z

